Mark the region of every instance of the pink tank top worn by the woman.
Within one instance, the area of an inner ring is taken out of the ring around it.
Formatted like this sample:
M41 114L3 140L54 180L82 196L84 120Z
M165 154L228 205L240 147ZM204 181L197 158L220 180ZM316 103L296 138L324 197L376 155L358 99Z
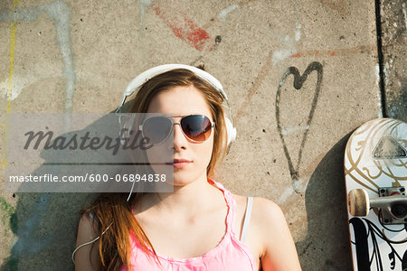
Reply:
M223 192L224 199L228 206L226 233L221 242L215 248L198 257L175 258L166 257L157 253L162 265L159 266L156 258L154 256L148 257L136 237L130 235L132 271L254 271L255 264L251 251L246 244L237 238L233 231L232 224L236 216L236 202L234 201L232 193L225 189L219 182L214 182L210 179L208 182ZM151 250L150 252L152 253ZM128 271L128 269L123 266L121 271Z

